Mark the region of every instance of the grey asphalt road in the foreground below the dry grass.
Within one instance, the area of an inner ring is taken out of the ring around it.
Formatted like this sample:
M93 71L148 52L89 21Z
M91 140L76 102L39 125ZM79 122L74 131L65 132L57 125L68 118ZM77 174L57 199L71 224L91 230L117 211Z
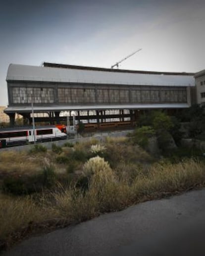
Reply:
M204 256L205 190L104 214L14 247L3 256Z

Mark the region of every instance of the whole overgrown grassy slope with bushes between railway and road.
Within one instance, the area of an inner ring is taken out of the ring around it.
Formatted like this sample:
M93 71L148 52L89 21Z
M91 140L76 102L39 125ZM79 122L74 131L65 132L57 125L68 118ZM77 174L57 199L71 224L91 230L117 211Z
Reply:
M177 161L156 162L127 138L76 143L73 148L53 146L50 151L38 152L0 153L5 165L12 159L18 168L24 159L28 162L27 174L6 173L3 185L7 182L7 190L1 186L0 240L5 243L16 240L16 233L25 236L25 230L47 229L48 223L53 227L78 223L137 202L205 186L205 162L191 158L192 153L180 160L178 151L174 153L179 156ZM31 175L30 163L41 170Z

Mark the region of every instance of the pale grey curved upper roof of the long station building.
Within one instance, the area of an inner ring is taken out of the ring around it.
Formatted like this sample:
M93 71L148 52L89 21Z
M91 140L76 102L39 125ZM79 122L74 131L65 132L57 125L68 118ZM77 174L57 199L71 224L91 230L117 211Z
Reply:
M195 86L194 73L169 73L63 64L10 64L7 81L44 81L117 85Z

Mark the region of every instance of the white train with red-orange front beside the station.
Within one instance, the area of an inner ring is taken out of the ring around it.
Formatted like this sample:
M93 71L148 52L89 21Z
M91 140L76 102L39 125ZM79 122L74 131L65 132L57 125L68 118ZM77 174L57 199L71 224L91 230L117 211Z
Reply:
M6 128L0 129L0 148L66 138L66 127L63 125L38 127L35 129L32 127Z

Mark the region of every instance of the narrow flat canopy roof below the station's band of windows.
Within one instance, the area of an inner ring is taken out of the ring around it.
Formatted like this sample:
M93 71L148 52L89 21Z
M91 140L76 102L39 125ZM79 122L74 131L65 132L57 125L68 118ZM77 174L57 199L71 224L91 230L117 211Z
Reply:
M169 104L116 104L116 105L53 105L53 106L34 106L34 112L47 111L72 111L72 110L107 110L107 109L180 109L189 108L187 103ZM31 113L31 106L7 107L5 113Z

